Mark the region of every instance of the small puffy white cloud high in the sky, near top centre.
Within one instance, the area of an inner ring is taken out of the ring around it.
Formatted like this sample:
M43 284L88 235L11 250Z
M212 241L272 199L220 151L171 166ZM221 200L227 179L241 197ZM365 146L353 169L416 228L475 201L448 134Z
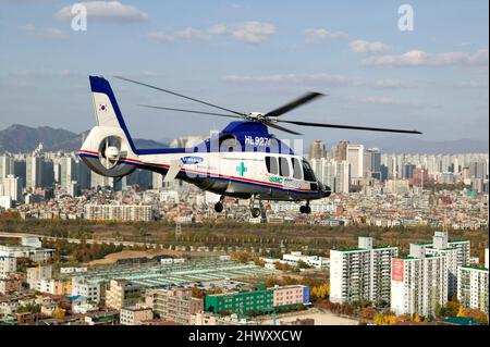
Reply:
M246 44L260 44L269 36L278 33L275 27L269 23L245 22L234 26L218 24L208 29L213 35L229 35L237 41Z

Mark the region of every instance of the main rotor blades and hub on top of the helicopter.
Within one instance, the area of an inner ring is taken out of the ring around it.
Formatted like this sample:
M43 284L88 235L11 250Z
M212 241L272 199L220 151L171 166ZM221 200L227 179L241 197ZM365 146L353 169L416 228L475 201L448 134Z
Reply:
M397 129L397 128L384 128L384 127L371 127L371 126L357 126L357 125L342 125L342 124L329 124L329 123L314 123L314 122L303 122L303 121L292 121L292 120L281 120L279 119L279 116L281 116L284 113L287 113L303 104L306 104L313 100L316 100L322 96L324 96L321 92L316 92L316 91L309 91L303 96L301 96L299 98L290 101L285 104L283 104L280 108L277 108L272 111L269 111L267 113L260 113L260 112L250 112L250 113L245 113L245 112L238 112L238 111L234 111L228 108L223 108L207 101L203 101L196 98L192 98L192 97L187 97L184 96L182 94L169 90L169 89L163 89L160 87L156 87L146 83L142 83L142 82L137 82L134 79L130 79L130 78L125 78L122 76L114 76L115 78L122 79L122 80L126 80L126 82L131 82L140 86L145 86L151 89L156 89L159 91L163 91L170 95L174 95L187 100L192 100L201 104L206 104L208 107L211 108L216 108L219 109L221 111L226 111L230 112L232 114L224 114L224 113L216 113L216 112L207 112L207 111L199 111L199 110L184 110L184 109L175 109L175 108L167 108L167 107L160 107L160 106L150 106L150 104L140 104L142 107L145 108L151 108L151 109L159 109L159 110L167 110L167 111L175 111L175 112L186 112L186 113L194 113L194 114L204 114L204 115L215 115L215 116L223 116L223 117L233 117L233 119L243 119L249 122L258 122L258 123L262 123L266 126L270 126L273 127L275 129L279 129L281 132L285 132L289 134L294 134L294 135L301 135L299 133L289 129L286 127L283 127L277 123L289 123L289 124L294 124L294 125L299 125L299 126L313 126L313 127L326 127L326 128L338 128L338 129L353 129L353 131L367 131L367 132L385 132L385 133L403 133L403 134L421 134L418 131L409 131L409 129Z

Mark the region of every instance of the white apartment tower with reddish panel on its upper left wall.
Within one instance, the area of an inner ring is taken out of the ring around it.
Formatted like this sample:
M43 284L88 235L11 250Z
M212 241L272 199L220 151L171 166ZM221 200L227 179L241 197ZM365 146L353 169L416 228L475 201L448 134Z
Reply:
M448 264L444 256L426 253L411 245L408 257L392 260L391 310L396 314L434 315L448 302Z

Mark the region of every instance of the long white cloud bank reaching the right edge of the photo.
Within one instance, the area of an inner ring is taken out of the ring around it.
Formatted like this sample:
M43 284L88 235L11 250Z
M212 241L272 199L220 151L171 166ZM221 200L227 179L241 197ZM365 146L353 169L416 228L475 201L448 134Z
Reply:
M412 50L400 55L381 55L367 58L363 61L366 65L375 66L482 66L488 65L488 49L481 49L475 53L443 52L428 53L421 50Z

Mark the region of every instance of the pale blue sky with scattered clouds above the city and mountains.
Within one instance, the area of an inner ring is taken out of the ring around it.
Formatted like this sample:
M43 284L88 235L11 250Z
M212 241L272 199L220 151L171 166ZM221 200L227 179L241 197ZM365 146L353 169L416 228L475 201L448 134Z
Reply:
M397 27L399 5L414 30ZM137 103L211 111L111 78L114 74L240 111L268 111L308 90L327 98L289 120L417 128L421 138L488 139L488 1L87 2L0 0L0 128L74 132L95 124L89 74L108 77L130 131L154 139L207 134L225 120ZM380 133L296 128L306 140ZM278 134L289 136L286 134Z

